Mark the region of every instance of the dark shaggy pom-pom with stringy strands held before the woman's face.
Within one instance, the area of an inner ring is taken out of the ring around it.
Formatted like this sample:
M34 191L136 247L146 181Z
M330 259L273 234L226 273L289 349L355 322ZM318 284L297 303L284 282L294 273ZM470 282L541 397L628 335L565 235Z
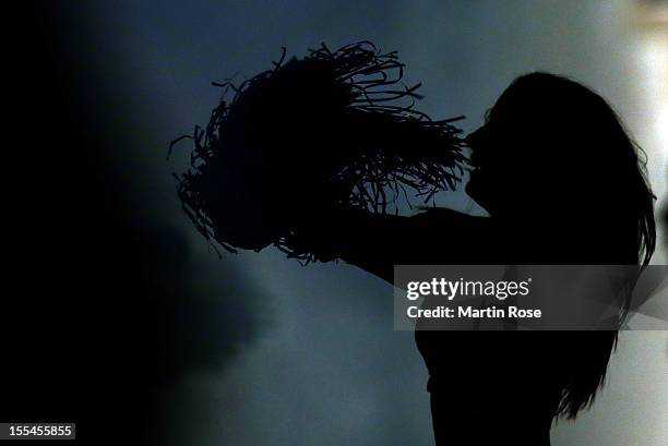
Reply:
M289 256L296 224L314 207L398 212L461 181L461 133L416 110L419 87L402 86L396 52L370 43L322 45L224 88L205 129L192 135L191 168L177 174L183 209L230 252L274 244Z

